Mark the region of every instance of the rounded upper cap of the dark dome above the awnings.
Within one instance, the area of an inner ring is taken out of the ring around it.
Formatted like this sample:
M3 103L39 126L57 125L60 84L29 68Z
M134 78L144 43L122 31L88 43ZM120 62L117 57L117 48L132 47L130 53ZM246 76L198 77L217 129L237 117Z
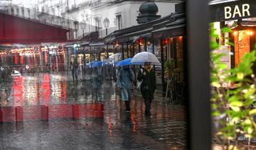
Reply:
M150 13L150 14L156 14L158 12L158 7L153 1L146 1L139 7L140 13Z

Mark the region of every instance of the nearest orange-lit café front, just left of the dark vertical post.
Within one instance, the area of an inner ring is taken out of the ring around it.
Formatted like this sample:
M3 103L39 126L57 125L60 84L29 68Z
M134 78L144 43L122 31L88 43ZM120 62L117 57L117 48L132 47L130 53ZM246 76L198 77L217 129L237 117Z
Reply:
M155 27L156 28L156 27ZM186 52L186 35L185 35L185 13L175 13L170 17L170 20L165 25L161 25L161 28L156 28L152 31L154 37L154 52L157 57L161 58L161 89L163 95L166 95L166 86L168 80L170 80L169 86L176 87L174 94L175 98L179 98L181 101L185 89L184 80L184 53ZM166 61L171 61L173 64L172 72L166 72L164 64ZM177 100L177 101L178 101Z

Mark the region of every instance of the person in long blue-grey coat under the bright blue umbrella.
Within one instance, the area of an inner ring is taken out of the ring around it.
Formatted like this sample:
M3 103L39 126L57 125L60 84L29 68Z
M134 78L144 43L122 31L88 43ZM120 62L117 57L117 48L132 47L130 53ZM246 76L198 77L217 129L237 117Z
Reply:
M129 66L124 66L117 75L117 86L121 89L122 101L125 103L125 110L130 111L131 88L134 81L134 73Z

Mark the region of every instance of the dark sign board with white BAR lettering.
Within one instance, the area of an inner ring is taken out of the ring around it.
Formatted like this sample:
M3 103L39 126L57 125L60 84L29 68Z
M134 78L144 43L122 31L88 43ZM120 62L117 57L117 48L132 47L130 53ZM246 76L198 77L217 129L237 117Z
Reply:
M230 1L220 4L210 4L210 22L231 21L240 18L256 17L256 1Z

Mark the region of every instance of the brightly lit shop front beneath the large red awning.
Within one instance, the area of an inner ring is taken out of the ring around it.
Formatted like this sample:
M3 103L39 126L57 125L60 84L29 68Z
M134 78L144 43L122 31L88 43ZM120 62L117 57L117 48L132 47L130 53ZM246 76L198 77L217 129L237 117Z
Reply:
M1 65L10 66L21 72L43 72L64 69L63 45L26 47L1 50Z

